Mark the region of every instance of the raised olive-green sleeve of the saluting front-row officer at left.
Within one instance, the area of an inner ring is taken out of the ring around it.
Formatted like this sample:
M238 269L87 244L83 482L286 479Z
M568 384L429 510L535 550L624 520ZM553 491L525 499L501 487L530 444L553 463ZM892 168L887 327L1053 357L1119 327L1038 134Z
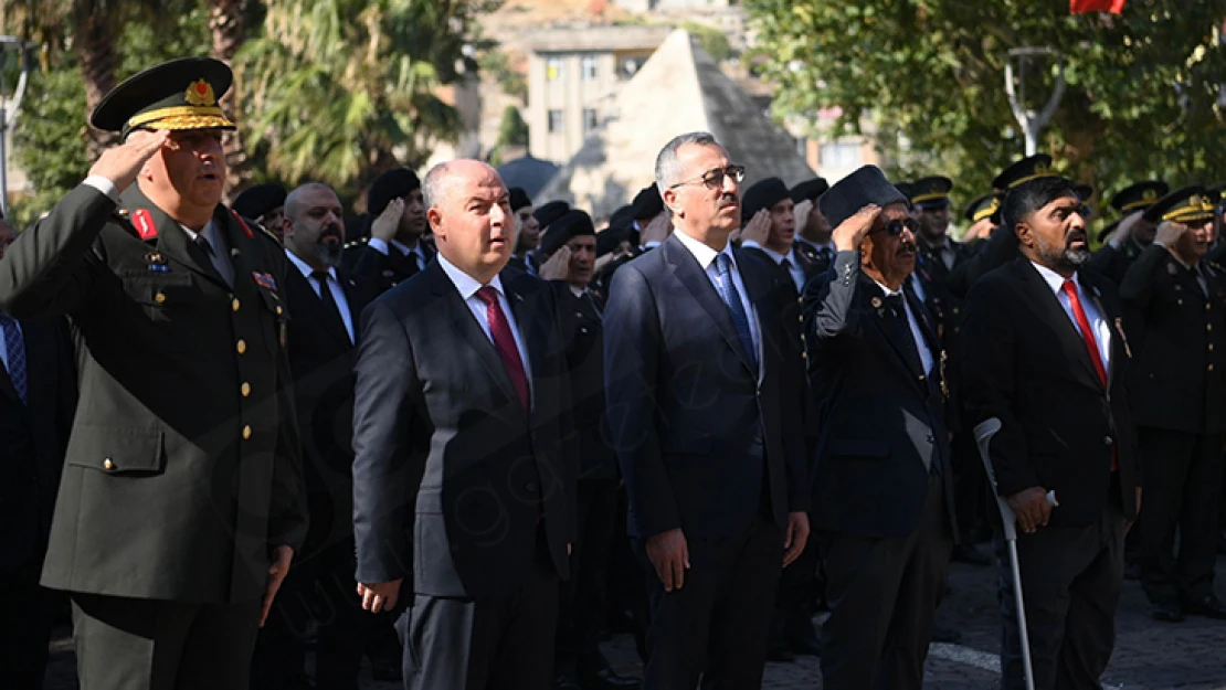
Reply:
M92 249L115 202L80 184L21 233L0 260L0 309L16 319L67 314L93 294L107 267Z

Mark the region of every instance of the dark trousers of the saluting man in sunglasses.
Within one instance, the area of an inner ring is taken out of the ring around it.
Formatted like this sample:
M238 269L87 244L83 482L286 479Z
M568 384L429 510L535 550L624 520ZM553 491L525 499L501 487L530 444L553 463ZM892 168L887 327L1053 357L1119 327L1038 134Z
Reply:
M905 538L824 536L826 690L920 690L954 545L944 494L931 476L920 525Z

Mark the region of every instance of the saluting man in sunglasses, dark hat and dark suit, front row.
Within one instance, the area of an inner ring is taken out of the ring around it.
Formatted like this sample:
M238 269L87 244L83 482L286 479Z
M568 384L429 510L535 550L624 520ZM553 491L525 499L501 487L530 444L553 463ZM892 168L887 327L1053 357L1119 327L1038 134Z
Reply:
M905 281L916 265L906 197L872 165L821 197L832 271L804 295L818 438L830 689L918 689L954 543L944 354Z

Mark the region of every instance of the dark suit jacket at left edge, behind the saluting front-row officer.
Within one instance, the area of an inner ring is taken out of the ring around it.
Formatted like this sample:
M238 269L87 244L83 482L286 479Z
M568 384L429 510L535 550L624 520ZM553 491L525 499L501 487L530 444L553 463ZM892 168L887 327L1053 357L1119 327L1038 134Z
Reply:
M21 322L26 402L0 368L0 576L38 581L76 407L67 322ZM4 343L0 342L0 347Z

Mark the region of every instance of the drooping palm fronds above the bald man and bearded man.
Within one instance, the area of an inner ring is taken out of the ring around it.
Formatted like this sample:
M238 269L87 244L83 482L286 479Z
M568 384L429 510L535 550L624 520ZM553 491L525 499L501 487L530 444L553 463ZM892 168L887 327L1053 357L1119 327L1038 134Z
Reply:
M235 59L243 136L291 184L362 186L459 134L436 96L476 71L473 18L493 0L270 0ZM466 48L468 47L468 48ZM259 176L259 175L257 175Z

